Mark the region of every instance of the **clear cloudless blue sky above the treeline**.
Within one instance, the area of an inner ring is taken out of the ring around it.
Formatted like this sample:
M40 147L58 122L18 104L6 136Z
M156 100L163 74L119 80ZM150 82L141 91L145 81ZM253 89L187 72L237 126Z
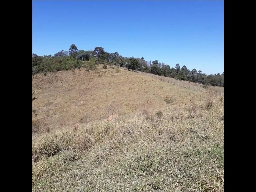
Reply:
M32 53L103 47L224 72L224 1L32 1Z

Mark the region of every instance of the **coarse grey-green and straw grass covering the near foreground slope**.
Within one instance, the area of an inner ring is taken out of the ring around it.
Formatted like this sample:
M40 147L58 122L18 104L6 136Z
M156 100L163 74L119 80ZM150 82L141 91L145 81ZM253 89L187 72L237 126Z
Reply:
M223 114L209 95L34 135L32 191L224 191Z

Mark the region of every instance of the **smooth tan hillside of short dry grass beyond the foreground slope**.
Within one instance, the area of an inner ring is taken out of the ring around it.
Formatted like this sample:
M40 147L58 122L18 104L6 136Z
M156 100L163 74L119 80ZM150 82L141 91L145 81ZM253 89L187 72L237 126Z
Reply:
M112 114L136 113L147 108L184 105L190 94L203 99L206 93L183 89L138 73L102 66L95 71L76 69L56 74L36 74L32 81L35 99L32 119L41 130L74 126L107 118ZM173 101L166 103L166 101Z

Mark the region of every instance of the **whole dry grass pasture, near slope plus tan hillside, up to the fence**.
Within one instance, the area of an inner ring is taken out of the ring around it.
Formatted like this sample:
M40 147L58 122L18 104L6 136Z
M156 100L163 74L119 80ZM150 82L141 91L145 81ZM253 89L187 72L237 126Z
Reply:
M223 192L224 96L103 71L34 76L32 191Z

